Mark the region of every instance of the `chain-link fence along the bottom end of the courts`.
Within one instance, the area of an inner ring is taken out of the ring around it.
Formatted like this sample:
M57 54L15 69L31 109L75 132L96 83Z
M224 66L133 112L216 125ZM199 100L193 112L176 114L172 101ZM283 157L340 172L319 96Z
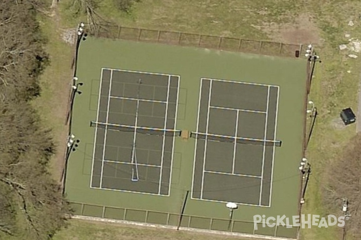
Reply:
M120 207L108 207L86 203L71 202L74 215L115 219L140 223L151 223L164 226L178 226L180 213L166 213L153 210L131 209ZM199 228L204 230L216 230L235 232L242 234L257 234L274 237L296 238L297 227L274 226L262 227L258 223L255 230L253 221L239 221L222 218L208 218L183 214L180 226L187 228Z

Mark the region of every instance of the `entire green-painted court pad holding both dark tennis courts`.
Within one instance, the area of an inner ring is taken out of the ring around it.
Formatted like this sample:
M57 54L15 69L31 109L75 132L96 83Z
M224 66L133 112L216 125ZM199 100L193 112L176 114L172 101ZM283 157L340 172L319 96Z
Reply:
M295 237L252 221L298 215L306 59L87 37L77 77L75 213Z

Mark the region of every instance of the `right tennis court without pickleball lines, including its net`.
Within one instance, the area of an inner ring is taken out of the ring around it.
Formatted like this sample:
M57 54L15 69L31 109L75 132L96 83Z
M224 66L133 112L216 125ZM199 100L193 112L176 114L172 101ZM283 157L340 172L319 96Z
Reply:
M279 87L201 79L192 198L270 206Z

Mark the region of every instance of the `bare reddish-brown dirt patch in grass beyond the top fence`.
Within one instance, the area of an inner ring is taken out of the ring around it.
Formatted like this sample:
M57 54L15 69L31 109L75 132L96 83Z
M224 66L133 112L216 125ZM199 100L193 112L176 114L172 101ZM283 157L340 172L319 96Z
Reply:
M271 22L265 23L260 28L276 41L290 44L321 44L319 30L313 18L307 14L300 14L293 23Z

